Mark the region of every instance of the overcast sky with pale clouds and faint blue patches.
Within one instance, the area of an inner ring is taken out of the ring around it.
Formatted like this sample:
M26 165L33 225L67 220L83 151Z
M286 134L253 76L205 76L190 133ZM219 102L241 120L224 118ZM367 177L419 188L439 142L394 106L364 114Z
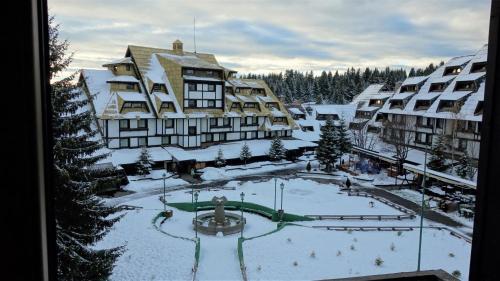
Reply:
M488 40L490 0L49 0L72 69L180 39L240 73L422 67Z

